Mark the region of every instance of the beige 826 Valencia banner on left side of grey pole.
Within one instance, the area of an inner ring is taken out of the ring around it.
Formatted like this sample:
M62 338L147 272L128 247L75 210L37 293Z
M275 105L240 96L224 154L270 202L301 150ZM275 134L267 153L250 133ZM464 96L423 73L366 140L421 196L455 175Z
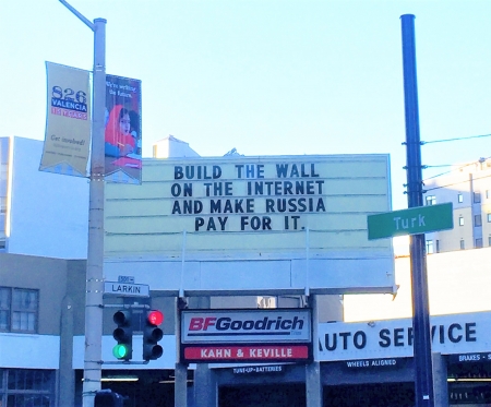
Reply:
M91 144L89 72L46 62L46 131L40 171L87 176Z

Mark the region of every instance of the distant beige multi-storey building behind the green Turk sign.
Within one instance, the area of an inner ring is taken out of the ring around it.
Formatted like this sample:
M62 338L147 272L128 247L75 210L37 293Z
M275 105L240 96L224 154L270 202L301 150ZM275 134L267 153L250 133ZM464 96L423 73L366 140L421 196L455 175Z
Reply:
M447 175L424 182L426 205L452 202L454 228L427 234L427 252L491 246L491 159L454 166Z

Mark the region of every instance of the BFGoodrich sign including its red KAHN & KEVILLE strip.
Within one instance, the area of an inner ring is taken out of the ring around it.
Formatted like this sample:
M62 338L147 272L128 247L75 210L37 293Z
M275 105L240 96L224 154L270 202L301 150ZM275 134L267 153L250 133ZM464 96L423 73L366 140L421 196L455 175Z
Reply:
M187 362L279 362L312 358L308 309L181 312Z

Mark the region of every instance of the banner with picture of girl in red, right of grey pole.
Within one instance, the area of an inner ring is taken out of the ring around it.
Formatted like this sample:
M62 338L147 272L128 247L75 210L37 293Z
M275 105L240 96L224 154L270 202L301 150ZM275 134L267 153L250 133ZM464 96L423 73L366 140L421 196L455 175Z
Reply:
M141 81L106 75L106 181L142 183Z

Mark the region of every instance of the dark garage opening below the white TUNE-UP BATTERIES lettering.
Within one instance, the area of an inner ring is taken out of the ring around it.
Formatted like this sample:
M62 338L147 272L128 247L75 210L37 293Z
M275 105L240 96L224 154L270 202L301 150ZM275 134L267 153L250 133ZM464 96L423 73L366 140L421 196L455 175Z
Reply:
M306 384L220 387L219 407L304 407Z

